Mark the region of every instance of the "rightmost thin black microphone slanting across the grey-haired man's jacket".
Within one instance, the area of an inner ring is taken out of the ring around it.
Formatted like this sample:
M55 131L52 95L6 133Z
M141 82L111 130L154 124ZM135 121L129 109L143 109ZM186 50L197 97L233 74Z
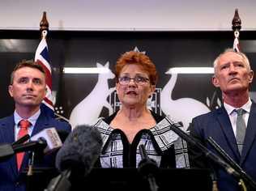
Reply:
M241 176L240 185L242 187L245 186L245 185L241 181L245 180L245 182L247 182L250 185L251 188L256 189L255 181L249 175L246 174L246 172L220 147L220 145L217 142L215 142L215 140L213 138L211 138L211 137L207 138L207 142L209 142L211 144L211 146L213 146L215 151L217 151L217 153L227 163L229 163L234 169L236 169L236 171ZM243 187L243 189L246 190L244 187Z

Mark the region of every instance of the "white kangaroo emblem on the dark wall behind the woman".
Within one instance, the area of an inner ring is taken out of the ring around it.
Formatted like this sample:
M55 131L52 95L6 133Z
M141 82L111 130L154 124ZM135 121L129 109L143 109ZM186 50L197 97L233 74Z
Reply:
M115 87L109 88L108 79L113 79L115 75L109 70L109 62L105 66L96 63L96 66L98 68L105 67L108 72L99 74L98 82L91 93L73 108L70 114L72 128L75 128L76 125L92 125L100 117L103 107L109 109L109 115L113 113L113 108L107 101L107 97L115 90Z

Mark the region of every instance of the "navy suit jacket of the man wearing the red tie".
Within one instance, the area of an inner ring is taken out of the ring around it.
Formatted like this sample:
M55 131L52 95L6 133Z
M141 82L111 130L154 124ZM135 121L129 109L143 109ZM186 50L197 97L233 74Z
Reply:
M0 119L0 144L15 142L15 121L14 116ZM36 125L32 131L32 135L39 133L42 129L55 127L57 130L64 130L68 133L71 127L68 123L57 121L51 117L45 116L43 112L38 117ZM55 153L56 154L56 153ZM54 167L54 156L46 155L38 161L35 160L35 167ZM25 168L28 168L28 153L24 155L21 169L17 170L15 155L11 159L0 163L0 191L23 191L26 190L25 179L21 173ZM35 188L36 189L36 188Z

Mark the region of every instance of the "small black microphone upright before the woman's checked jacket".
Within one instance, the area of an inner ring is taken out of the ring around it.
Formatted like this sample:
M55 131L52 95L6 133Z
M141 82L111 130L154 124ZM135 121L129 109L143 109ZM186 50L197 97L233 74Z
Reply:
M159 168L156 161L148 157L144 145L139 145L139 154L142 160L139 162L138 171L147 179L150 190L157 191L158 185L156 184L155 174Z

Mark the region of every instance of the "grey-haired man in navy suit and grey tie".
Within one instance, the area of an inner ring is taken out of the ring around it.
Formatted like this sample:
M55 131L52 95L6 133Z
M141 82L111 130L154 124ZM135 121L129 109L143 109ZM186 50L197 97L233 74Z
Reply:
M250 62L245 54L234 52L233 49L227 49L215 59L214 70L212 83L215 87L220 87L224 104L214 111L194 117L189 128L190 135L215 152L206 141L211 136L248 175L256 180L256 104L252 103L249 96L254 72L250 69ZM242 125L237 124L236 110L239 108L243 111L239 121L244 123L244 138L241 138L239 130ZM241 189L233 176L220 166L209 163L193 146L188 146L191 166L210 168L211 165L220 191Z

